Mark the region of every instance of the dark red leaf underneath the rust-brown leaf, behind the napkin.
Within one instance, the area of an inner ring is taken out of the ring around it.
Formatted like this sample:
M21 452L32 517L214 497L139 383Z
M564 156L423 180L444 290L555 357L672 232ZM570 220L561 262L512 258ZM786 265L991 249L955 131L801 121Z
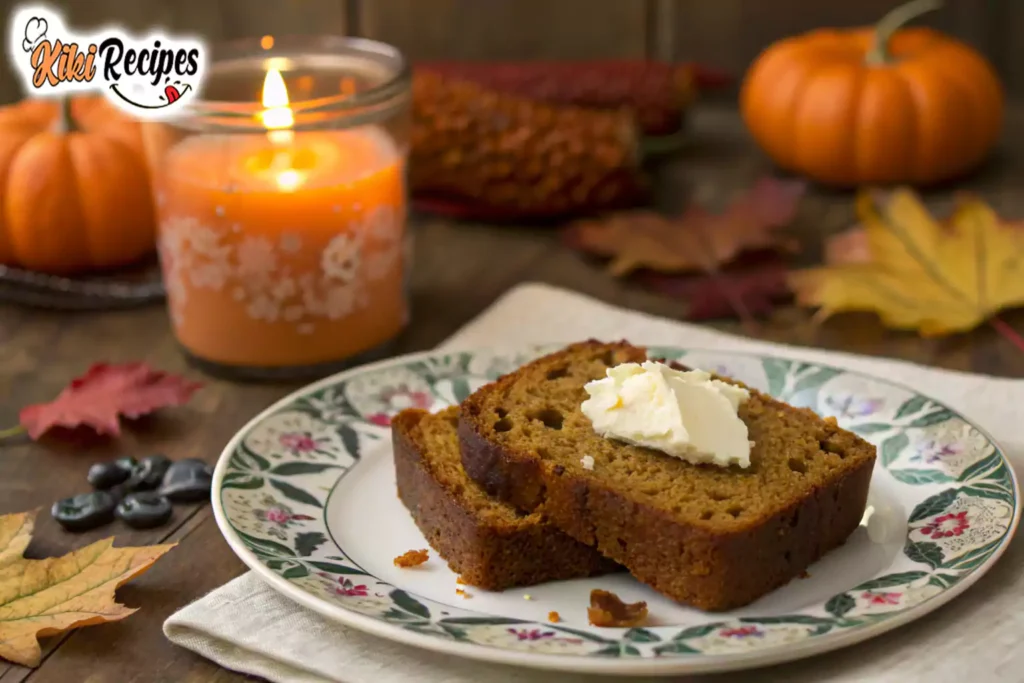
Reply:
M792 297L785 262L777 255L758 262L736 263L717 273L665 275L645 272L641 284L689 304L687 319L767 315L775 304ZM737 310L737 308L739 310Z

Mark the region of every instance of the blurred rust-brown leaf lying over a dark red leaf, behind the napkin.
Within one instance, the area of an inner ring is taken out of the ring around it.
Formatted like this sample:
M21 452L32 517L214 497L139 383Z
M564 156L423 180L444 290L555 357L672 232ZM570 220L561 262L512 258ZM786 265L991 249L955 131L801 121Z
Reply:
M675 217L652 211L614 213L569 225L565 240L575 249L610 257L608 268L616 276L641 268L714 270L745 251L796 249L777 228L793 221L804 188L802 182L763 178L721 214L697 205Z

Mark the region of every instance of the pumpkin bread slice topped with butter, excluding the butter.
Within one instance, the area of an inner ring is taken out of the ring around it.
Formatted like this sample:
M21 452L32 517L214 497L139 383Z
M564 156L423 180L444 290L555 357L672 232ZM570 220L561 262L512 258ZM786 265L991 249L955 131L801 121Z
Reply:
M466 472L521 510L543 508L660 593L713 611L785 584L857 527L874 446L754 389L739 409L754 441L746 469L595 433L580 410L584 384L645 359L626 342L589 341L481 387L461 407Z

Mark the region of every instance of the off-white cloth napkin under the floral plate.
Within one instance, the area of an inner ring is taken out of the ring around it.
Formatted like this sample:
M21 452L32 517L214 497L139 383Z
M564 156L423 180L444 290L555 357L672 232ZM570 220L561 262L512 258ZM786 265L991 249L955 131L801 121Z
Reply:
M769 352L886 377L935 396L986 428L1024 465L1024 381L757 342L694 325L615 308L544 285L522 285L442 348L515 348L588 337ZM919 622L845 650L772 669L687 677L691 683L904 683L1022 680L1022 543L951 604ZM303 683L583 683L603 677L492 666L421 651L365 635L303 609L248 572L171 615L174 643L234 671ZM667 679L681 680L681 679Z

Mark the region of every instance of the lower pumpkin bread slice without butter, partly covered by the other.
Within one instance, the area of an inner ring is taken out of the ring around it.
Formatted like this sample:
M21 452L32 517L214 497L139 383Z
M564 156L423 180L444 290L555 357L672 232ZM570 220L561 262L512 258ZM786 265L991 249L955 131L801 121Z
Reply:
M459 409L407 410L391 423L398 498L463 582L500 591L622 567L544 520L489 498L459 458Z

